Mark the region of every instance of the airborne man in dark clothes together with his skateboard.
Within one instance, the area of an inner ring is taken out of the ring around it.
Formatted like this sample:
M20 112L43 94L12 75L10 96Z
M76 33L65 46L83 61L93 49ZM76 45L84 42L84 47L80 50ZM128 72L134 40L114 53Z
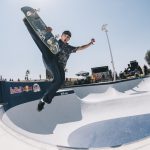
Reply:
M71 38L71 32L64 31L60 40L57 41L53 38L54 36L51 33L52 28L46 26L35 9L25 6L22 7L21 10L25 14L23 22L42 53L46 69L53 77L49 88L38 104L37 110L41 111L44 108L45 103L51 103L56 91L64 83L65 66L70 54L89 47L95 40L91 39L86 45L74 47L68 44L68 41Z

